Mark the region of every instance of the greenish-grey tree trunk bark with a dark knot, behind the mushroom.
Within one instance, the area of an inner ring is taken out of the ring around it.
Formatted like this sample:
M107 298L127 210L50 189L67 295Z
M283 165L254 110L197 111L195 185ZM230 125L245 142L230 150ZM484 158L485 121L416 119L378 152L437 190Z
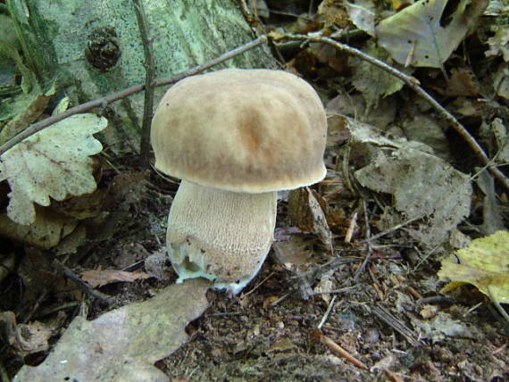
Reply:
M131 0L8 0L26 62L39 82L56 80L71 105L143 84L146 71ZM188 68L255 38L234 0L144 0L156 78ZM119 55L120 54L120 55ZM220 67L275 67L267 46ZM167 87L155 90L154 105ZM103 140L115 152L138 150L144 95L111 105Z

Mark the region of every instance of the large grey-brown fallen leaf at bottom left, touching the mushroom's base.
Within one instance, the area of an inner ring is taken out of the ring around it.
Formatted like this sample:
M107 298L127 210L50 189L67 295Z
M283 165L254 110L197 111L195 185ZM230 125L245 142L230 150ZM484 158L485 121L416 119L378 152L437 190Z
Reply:
M13 382L168 382L154 362L188 341L185 328L207 308L209 286L204 279L189 279L96 320L78 316L46 360L37 367L23 366Z

